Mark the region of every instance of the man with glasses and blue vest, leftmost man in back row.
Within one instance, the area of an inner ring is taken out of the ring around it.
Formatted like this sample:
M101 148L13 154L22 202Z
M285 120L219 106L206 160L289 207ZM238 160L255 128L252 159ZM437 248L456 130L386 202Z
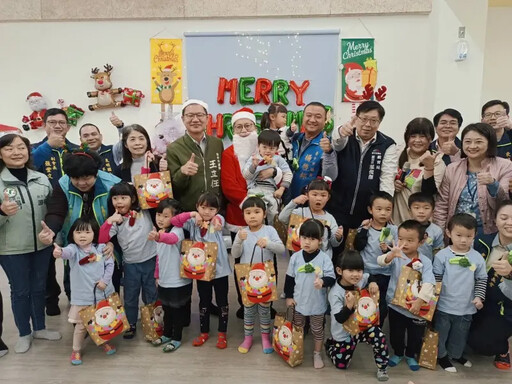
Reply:
M62 109L48 109L43 118L43 128L46 131L46 137L39 143L32 145L32 159L35 168L48 176L52 187L55 189L59 179L64 176L62 155L65 149L71 151L78 148L78 145L66 139L70 126L68 116ZM52 257L46 281L46 314L48 316L60 314L58 305L60 293L61 289L56 278L55 258ZM67 294L69 297L68 292Z

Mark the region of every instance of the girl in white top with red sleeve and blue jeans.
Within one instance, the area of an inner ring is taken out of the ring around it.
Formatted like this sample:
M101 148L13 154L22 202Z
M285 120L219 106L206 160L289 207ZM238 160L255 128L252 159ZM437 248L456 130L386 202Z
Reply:
M109 214L100 228L100 243L117 236L123 251L124 306L130 329L123 335L133 339L137 330L139 295L144 304L157 298L155 283L156 244L148 240L153 229L149 211L139 209L135 187L126 182L115 184L109 192Z

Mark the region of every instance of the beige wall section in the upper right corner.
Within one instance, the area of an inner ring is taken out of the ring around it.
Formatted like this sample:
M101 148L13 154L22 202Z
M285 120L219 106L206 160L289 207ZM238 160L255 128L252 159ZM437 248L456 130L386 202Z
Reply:
M511 39L512 7L489 8L482 104L492 99L512 103Z

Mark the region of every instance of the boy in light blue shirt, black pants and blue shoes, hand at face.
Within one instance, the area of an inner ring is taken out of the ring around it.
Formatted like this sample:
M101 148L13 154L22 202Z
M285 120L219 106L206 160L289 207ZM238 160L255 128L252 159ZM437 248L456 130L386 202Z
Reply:
M420 369L416 358L420 353L426 326L426 321L419 317L420 309L432 298L436 283L432 262L418 250L424 238L425 227L416 220L406 220L398 227L398 244L377 258L380 265L391 266L386 300L389 307L389 340L395 354L389 359L389 366L398 365L405 357L412 371ZM391 304L403 266L419 271L422 280L418 298L411 300L409 310Z

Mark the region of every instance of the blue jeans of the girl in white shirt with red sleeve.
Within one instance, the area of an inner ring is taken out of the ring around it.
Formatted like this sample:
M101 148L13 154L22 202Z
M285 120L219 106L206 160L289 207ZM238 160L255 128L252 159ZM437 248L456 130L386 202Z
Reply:
M158 291L155 282L155 266L156 256L142 263L125 263L123 266L124 308L130 325L137 323L141 289L144 304L156 301Z

